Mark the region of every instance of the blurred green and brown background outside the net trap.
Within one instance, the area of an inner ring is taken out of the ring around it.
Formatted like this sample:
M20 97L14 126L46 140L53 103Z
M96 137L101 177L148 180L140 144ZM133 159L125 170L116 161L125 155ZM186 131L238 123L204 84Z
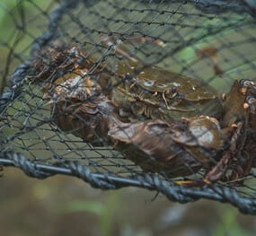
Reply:
M23 6L31 19L47 21L34 4L47 11L54 6L52 1L27 2ZM45 25L38 28L31 21L31 34L22 33L26 28L17 31L13 25L13 15L21 13L17 4L19 1L0 1L1 75L8 59L14 68L28 56L31 41L45 29ZM10 57L10 48L15 48L21 58ZM255 217L240 214L230 205L207 200L181 205L161 195L154 199L155 195L139 188L102 191L71 177L30 179L21 170L4 168L0 179L0 235L256 234Z

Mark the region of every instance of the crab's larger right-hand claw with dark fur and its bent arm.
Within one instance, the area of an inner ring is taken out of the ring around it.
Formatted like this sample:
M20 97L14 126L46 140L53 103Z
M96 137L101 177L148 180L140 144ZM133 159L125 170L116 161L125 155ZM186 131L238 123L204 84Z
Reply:
M238 181L255 167L256 87L235 81L226 94L223 117L181 118L179 122L150 119L123 124L109 131L115 148L143 170L165 177L184 177L204 168L197 181Z

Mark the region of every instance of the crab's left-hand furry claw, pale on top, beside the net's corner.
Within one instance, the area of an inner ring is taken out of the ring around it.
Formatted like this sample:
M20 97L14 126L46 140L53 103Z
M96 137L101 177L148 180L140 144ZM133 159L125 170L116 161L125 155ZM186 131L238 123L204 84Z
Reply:
M43 86L42 99L51 106L52 121L62 131L102 146L109 144L108 131L121 124L117 106L103 93L86 69L76 68Z

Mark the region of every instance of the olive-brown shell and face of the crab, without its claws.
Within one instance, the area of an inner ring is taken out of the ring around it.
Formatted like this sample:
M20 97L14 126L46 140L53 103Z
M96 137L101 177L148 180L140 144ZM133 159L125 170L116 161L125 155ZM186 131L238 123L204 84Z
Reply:
M133 61L120 62L117 67L119 85L112 90L112 98L123 117L178 121L198 115L221 116L222 104L215 90L199 80Z

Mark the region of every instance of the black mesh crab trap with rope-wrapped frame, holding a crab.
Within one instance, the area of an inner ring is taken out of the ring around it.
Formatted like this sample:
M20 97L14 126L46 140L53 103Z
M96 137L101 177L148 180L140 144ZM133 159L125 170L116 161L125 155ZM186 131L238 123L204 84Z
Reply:
M256 214L256 4L20 0L0 11L3 173Z

